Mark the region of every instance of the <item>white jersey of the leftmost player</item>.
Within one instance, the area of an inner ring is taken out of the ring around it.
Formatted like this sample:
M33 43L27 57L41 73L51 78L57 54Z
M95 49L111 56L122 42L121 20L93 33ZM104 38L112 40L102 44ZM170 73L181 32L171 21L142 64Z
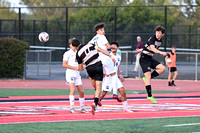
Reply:
M70 66L78 67L78 62L76 60L76 51L74 52L70 49L69 51L65 52L63 55L63 61L67 61L67 64ZM77 75L80 75L79 71L68 68L66 69L66 77L76 77Z

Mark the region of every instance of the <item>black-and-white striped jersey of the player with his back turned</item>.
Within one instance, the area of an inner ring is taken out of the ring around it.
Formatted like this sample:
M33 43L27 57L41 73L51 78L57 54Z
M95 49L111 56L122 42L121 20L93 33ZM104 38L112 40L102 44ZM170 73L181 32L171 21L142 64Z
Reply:
M86 66L93 65L100 61L99 53L94 44L80 45L76 53L78 64L84 63Z

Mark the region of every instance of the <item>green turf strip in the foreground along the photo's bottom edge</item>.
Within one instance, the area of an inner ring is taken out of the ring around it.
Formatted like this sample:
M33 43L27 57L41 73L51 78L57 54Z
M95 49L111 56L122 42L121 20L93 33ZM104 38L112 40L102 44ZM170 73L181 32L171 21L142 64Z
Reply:
M153 119L120 119L68 121L46 123L1 124L5 133L192 133L200 132L199 125L166 125L199 123L200 116Z

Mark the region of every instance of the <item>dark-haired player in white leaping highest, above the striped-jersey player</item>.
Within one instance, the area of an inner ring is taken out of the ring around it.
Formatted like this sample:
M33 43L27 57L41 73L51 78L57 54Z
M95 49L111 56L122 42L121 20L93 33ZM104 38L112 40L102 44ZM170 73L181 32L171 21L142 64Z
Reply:
M92 40L89 42L91 44L95 44L96 46L100 47L101 49L107 51L107 49L116 49L116 47L111 46L108 42L108 40L105 37L105 24L104 23L98 23L95 25L94 29L96 31L96 35L92 38ZM113 98L120 101L121 99L117 95L117 74L114 69L114 64L111 58L106 56L105 54L99 52L99 58L101 59L101 62L103 64L103 70L105 74L105 80L109 81L112 84L113 88ZM112 77L112 80L109 80L109 76Z

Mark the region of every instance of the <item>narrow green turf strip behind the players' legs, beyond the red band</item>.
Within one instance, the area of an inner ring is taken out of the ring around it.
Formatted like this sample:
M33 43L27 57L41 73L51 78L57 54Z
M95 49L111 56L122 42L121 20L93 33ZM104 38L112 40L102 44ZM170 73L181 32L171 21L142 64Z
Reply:
M0 89L0 97L5 96L57 96L69 95L69 89ZM94 95L94 90L85 89L85 95ZM153 94L188 93L190 91L153 91ZM145 90L127 90L126 94L146 94ZM108 92L107 94L112 94ZM78 95L76 90L75 95Z

